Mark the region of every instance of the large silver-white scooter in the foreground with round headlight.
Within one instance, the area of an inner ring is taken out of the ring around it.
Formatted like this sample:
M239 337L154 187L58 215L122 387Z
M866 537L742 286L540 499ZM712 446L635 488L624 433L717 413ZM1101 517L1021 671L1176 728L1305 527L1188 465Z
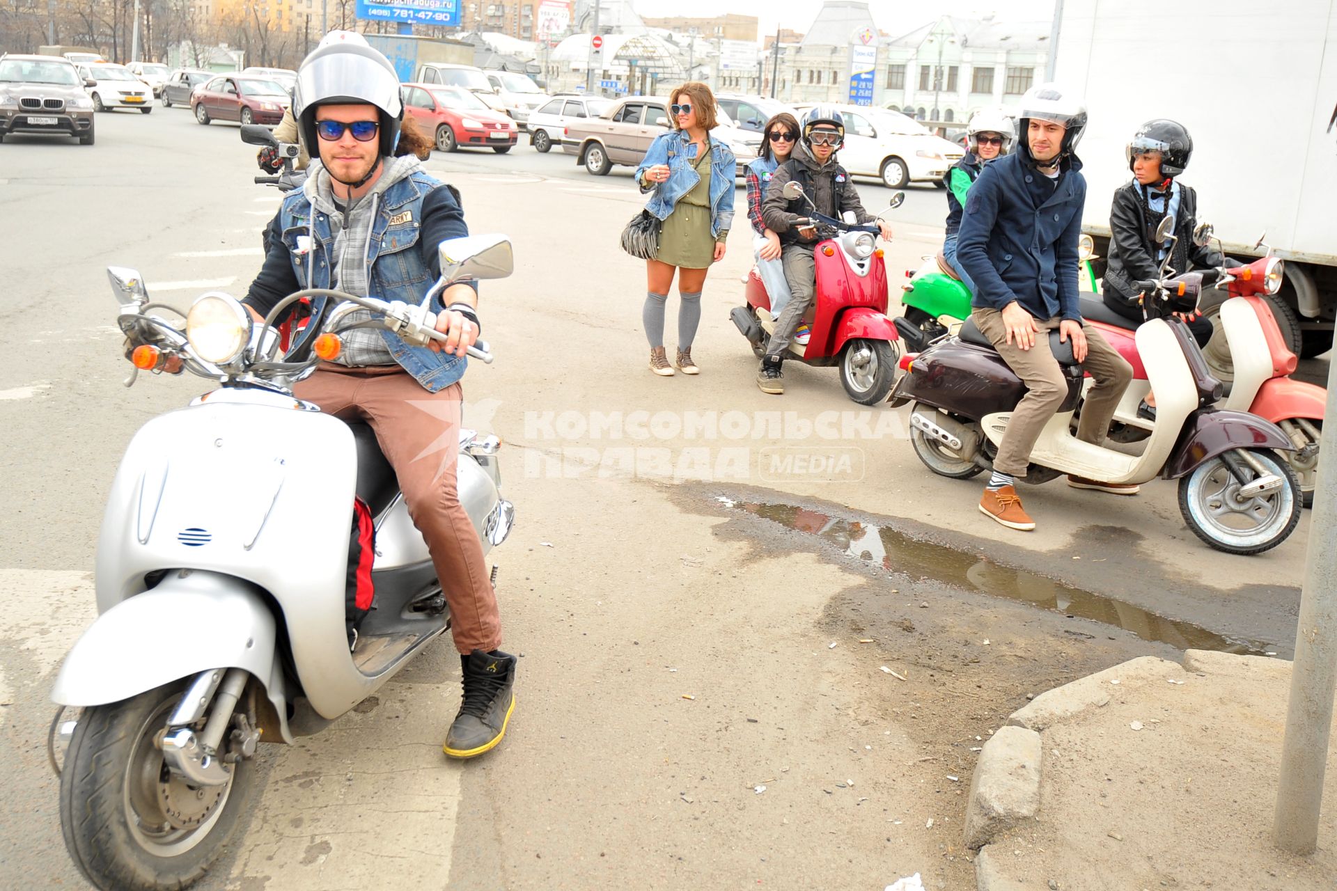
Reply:
M293 395L317 357L337 354L350 311L372 310L373 323L425 346L445 339L427 309L435 294L512 269L511 243L495 235L443 242L440 255L421 306L306 290L253 326L241 303L209 293L185 330L148 302L138 273L108 270L134 350L126 385L138 370L189 370L222 386L131 441L98 541L100 614L52 691L83 709L64 724L57 713L48 743L66 847L95 887L199 879L250 806L257 743L322 729L447 631L441 582L370 429ZM314 355L274 361L271 323L303 297L330 298L325 333ZM483 342L469 355L492 361ZM460 431L459 497L484 552L515 518L499 496L499 446ZM374 517L376 598L350 647L354 497Z

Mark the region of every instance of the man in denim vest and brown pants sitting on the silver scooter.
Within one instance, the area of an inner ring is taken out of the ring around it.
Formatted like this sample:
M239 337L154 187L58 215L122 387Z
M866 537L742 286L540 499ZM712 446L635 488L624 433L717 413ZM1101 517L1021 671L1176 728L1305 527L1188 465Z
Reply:
M336 31L302 61L293 95L302 139L320 164L283 198L271 223L277 238L245 303L262 318L309 287L421 302L441 273L437 246L469 230L455 188L422 171L417 158L394 156L404 118L394 65L361 35ZM463 703L444 745L451 757L495 747L515 707L516 659L497 649L496 593L456 490L460 378L480 333L477 305L476 289L465 283L436 298L444 345L410 346L380 326L345 327L338 357L293 387L326 414L372 425L427 541L464 672ZM313 298L290 357L309 355L328 307L326 298ZM358 310L346 321L356 323L360 314L369 318Z

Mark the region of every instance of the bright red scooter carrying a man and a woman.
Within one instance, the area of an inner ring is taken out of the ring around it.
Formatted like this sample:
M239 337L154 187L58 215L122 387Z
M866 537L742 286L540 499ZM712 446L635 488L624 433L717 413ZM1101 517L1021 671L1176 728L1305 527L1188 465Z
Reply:
M785 184L785 198L802 196L812 218L802 220L817 228L817 299L805 319L812 326L806 345L790 342L786 362L812 366L838 366L845 393L860 405L886 399L896 378L900 357L896 325L886 315L886 263L877 247L878 228L842 222L817 212L804 187ZM892 196L900 207L905 192ZM775 330L770 295L757 270L747 277L747 305L729 313L738 330L753 346L757 358L766 354L766 339Z

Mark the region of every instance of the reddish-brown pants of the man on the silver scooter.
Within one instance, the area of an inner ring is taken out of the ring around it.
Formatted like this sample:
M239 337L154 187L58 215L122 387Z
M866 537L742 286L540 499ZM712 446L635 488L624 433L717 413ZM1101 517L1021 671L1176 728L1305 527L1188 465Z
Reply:
M501 616L488 581L483 545L460 504L461 387L429 393L397 365L349 369L321 363L293 390L325 414L366 421L398 477L413 524L427 540L451 605L451 632L461 653L501 645Z

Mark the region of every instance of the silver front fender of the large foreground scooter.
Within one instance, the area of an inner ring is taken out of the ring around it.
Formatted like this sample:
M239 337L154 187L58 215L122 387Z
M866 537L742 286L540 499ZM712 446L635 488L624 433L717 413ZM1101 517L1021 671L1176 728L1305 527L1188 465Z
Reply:
M242 668L265 685L283 741L291 743L274 628L255 585L214 572L172 572L88 627L66 656L51 699L103 705L211 668Z

